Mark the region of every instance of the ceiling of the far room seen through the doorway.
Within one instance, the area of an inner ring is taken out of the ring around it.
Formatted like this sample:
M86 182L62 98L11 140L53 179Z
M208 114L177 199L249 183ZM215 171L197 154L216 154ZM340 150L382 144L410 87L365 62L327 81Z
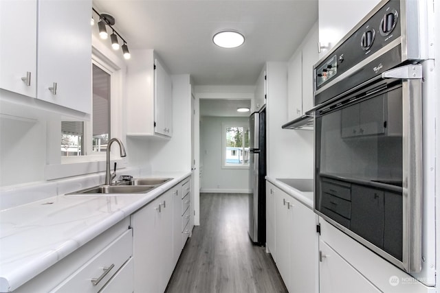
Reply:
M200 99L200 116L249 117L250 112L237 112L237 108L250 108L249 99Z

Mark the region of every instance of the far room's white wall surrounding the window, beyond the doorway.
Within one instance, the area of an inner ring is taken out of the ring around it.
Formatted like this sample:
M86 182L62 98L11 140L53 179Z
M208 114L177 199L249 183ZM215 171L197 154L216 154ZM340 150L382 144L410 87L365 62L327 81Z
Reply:
M249 193L249 169L222 168L222 124L248 124L248 117L201 117L201 192Z

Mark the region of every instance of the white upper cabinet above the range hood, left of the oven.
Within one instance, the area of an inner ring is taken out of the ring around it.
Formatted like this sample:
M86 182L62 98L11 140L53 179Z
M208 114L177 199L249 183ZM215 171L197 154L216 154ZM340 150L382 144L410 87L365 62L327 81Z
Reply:
M287 68L287 120L291 121L310 110L314 105L313 67L318 62L318 23L289 60Z

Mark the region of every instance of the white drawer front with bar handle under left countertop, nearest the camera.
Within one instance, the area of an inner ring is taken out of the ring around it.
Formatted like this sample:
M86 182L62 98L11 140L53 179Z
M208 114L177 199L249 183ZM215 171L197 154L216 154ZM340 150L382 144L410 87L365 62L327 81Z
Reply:
M132 255L133 237L129 229L51 292L98 292ZM102 268L109 268L107 274ZM92 279L96 279L96 285Z

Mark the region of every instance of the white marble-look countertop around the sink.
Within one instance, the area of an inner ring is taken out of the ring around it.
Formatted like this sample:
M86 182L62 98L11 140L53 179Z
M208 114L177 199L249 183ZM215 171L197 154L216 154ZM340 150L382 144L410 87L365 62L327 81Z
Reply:
M146 194L59 195L0 212L0 292L10 292L137 211L190 173Z

